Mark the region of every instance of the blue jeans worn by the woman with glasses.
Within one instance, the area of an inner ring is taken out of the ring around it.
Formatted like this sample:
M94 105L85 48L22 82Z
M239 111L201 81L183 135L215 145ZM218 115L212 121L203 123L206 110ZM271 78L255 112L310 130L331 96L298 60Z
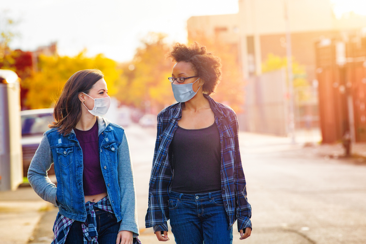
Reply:
M177 244L231 244L221 191L204 194L169 193L169 218Z

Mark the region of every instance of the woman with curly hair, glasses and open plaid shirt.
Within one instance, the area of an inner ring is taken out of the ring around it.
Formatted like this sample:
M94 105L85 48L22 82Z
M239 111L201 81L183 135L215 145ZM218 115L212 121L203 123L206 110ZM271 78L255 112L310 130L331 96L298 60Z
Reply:
M167 241L170 225L178 244L232 243L251 233L251 207L239 152L235 112L209 95L221 79L221 60L195 42L177 43L167 54L178 103L157 117L146 228ZM163 234L163 235L162 235Z

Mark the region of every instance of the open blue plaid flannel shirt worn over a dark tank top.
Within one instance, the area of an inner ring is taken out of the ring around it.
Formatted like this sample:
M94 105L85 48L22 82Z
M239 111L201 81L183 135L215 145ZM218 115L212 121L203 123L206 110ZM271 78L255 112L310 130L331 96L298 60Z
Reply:
M246 182L239 151L238 120L235 112L209 95L208 99L215 115L221 143L221 191L228 214L230 228L238 220L238 231L251 228L251 207L247 200ZM149 205L145 217L146 228L154 232L168 230L168 199L173 170L168 149L173 135L182 118L182 103L163 109L157 117L157 137L149 183Z

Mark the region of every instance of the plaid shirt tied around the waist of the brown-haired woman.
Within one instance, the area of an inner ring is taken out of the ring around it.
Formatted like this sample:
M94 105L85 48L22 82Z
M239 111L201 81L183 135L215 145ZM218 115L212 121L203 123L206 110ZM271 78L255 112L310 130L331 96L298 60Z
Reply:
M98 244L98 232L97 232L97 217L94 211L94 207L113 213L111 203L108 196L102 198L99 202L86 202L86 220L81 224L83 230L84 244ZM51 244L64 244L67 234L74 219L67 218L60 214L57 214L55 224L53 225L53 240ZM141 244L138 237L133 239L133 244Z

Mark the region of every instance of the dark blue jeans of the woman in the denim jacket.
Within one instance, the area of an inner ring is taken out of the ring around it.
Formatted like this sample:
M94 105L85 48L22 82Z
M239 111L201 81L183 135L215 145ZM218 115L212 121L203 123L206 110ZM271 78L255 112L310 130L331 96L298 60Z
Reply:
M99 244L115 244L120 223L114 214L95 208ZM65 244L83 244L82 222L74 221L67 234Z

